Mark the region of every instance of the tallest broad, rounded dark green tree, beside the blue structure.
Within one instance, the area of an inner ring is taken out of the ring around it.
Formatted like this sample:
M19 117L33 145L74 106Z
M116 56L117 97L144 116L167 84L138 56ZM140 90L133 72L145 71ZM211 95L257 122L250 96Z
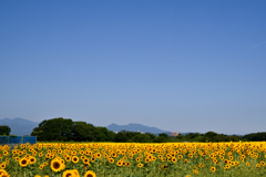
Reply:
M44 119L31 133L39 140L72 140L74 123L66 118Z

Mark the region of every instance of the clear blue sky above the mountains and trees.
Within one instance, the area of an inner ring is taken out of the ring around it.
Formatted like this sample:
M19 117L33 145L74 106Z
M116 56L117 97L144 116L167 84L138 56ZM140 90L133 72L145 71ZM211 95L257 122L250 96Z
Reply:
M0 1L0 118L266 132L266 1Z

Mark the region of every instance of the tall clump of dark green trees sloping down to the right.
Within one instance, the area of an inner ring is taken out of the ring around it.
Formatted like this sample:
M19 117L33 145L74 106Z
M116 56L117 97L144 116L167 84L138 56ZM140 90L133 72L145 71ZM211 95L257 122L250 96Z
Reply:
M41 122L31 136L42 142L112 142L115 134L105 127L59 117Z

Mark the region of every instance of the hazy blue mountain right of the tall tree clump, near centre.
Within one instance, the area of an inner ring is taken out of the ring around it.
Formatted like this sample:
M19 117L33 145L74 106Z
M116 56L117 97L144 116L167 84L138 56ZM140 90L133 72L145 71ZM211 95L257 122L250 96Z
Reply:
M132 123L127 125L111 124L106 128L113 132L121 132L121 131L137 132L139 131L143 133L155 134L155 135L162 134L162 133L171 134L171 132L168 131L163 131L156 127L150 127L142 124L132 124Z

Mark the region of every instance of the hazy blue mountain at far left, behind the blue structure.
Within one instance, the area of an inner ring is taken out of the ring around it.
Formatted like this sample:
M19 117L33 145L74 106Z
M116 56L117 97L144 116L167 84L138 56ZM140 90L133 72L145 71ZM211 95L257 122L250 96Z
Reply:
M39 123L34 123L24 118L3 118L0 119L0 125L8 125L11 128L10 135L30 135L34 127L39 126Z

